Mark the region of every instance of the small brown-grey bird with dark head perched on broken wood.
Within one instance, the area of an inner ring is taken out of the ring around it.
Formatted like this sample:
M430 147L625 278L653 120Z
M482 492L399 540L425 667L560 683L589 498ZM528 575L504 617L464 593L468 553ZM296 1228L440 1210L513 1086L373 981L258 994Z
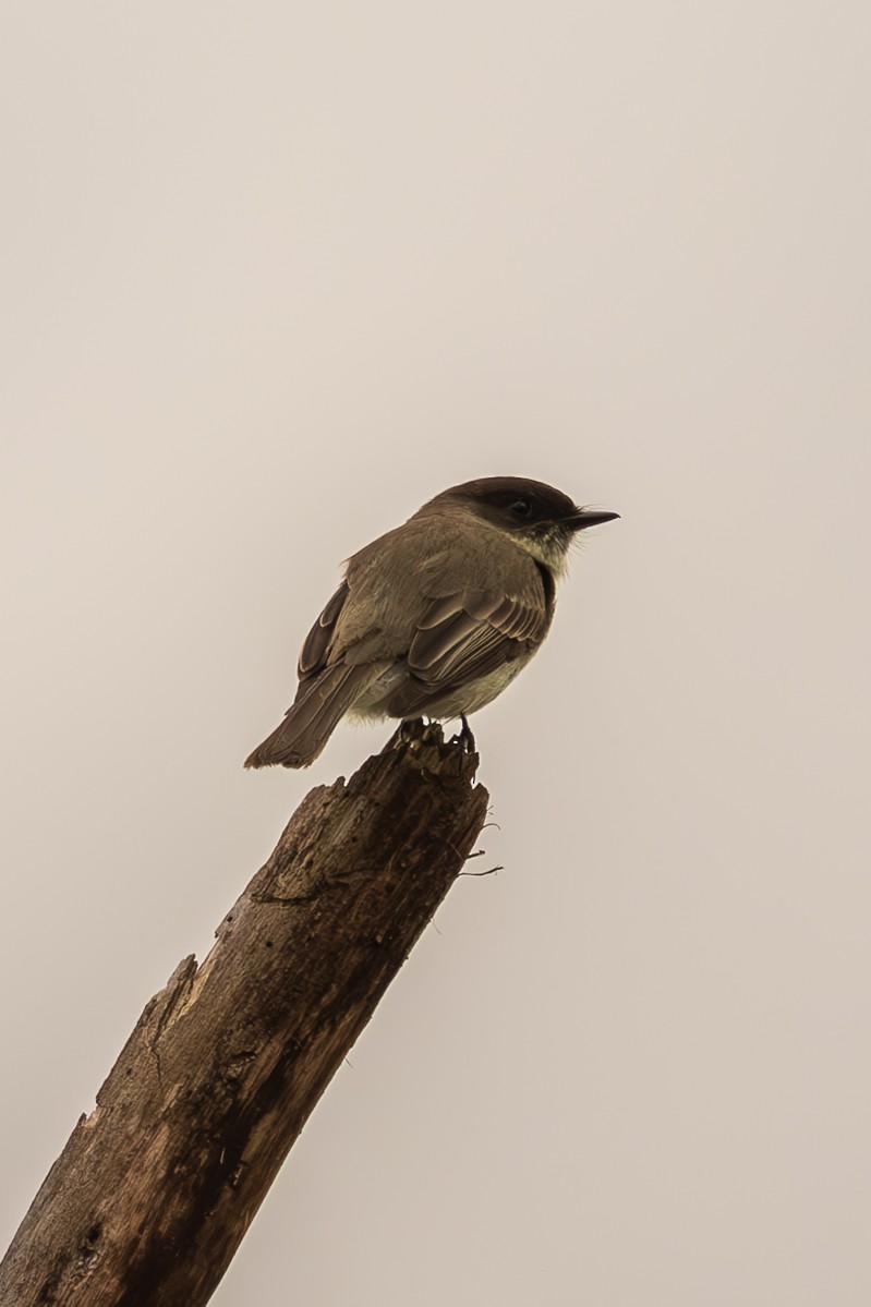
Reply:
M620 516L526 477L443 490L349 559L284 721L246 767L307 767L339 719L466 718L526 667L578 531Z

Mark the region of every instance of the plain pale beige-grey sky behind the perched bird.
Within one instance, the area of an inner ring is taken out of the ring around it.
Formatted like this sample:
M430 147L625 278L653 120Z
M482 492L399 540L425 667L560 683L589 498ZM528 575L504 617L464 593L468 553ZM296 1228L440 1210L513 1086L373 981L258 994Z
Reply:
M864 1307L867 3L10 3L5 1243L315 783L242 759L453 482L591 533L460 880L214 1302ZM483 860L484 861L484 860Z

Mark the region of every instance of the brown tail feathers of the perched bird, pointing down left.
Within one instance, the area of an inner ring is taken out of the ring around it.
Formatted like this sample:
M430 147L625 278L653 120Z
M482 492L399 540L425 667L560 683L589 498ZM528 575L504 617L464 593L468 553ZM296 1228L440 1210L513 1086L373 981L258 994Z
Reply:
M339 719L381 669L336 663L302 682L284 721L245 759L246 767L307 767L335 731Z

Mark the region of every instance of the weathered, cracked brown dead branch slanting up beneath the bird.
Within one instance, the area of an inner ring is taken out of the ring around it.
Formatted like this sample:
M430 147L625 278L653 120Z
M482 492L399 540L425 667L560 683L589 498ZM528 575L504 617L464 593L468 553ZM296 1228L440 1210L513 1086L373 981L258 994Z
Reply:
M208 1302L470 855L476 765L421 727L303 799L204 962L145 1006L0 1265L4 1307Z

